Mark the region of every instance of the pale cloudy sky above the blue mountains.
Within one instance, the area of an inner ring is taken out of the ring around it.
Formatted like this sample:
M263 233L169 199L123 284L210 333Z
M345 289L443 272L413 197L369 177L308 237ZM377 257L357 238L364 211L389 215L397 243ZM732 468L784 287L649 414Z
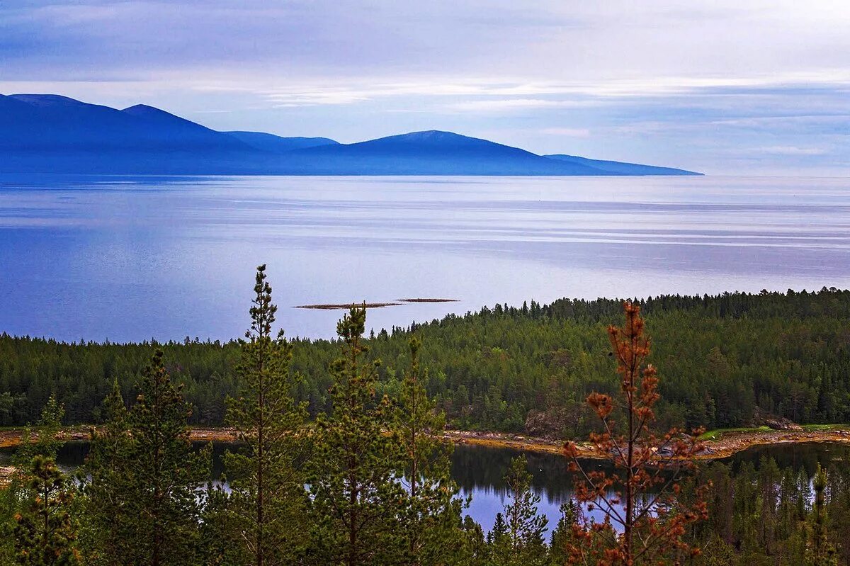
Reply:
M850 174L847 0L0 0L0 93L343 143L426 129Z

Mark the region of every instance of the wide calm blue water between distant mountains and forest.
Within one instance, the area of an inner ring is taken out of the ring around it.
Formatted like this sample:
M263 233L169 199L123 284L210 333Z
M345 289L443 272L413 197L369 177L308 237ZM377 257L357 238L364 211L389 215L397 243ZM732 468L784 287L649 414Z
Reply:
M238 337L258 263L308 337L341 313L296 305L847 288L850 179L0 176L0 331Z

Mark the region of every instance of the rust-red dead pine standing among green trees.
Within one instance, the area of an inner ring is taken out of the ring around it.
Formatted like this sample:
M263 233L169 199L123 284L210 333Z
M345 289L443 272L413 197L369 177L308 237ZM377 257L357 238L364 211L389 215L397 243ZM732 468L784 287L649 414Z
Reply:
M695 490L688 505L675 496L683 473L694 468L693 458L702 450L696 440L701 430L688 435L673 428L660 438L652 431L654 406L660 399L658 372L655 366L644 365L649 338L643 334L640 307L626 301L623 310L626 324L608 329L621 376L620 397L604 393L587 397L604 431L590 434L594 456L609 460L615 472L586 470L578 446L564 445L570 470L577 475L576 500L605 515L605 522L587 525L583 533L576 531L583 540L572 545L570 553L575 560L587 559L596 547L592 543L605 535L614 542L596 558L598 566L677 563L683 556L699 554L683 535L687 525L707 518L707 486Z

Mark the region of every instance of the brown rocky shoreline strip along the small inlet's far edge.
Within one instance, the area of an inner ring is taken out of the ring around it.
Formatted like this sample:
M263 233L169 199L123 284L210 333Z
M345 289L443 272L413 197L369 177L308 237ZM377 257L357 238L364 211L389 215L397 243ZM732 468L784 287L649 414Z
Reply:
M68 442L84 442L89 438L90 426L65 428L59 436ZM20 444L22 428L0 430L0 448L11 448ZM235 442L236 431L228 427L193 427L190 430L193 442ZM446 430L441 438L455 444L467 444L489 448L508 448L541 454L560 454L564 440L541 439L523 434L485 433L462 430ZM697 460L721 460L756 446L765 444L802 444L830 442L850 444L850 427L826 427L811 430L751 430L721 432L717 439L703 440L703 450ZM598 457L587 444L578 444L581 456Z

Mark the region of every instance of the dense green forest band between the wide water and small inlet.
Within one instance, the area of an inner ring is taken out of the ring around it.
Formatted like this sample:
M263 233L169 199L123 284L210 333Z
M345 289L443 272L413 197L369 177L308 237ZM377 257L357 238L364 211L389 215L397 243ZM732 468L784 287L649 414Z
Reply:
M656 411L664 426L740 427L759 414L795 422L850 421L850 291L762 291L635 300L653 337L663 379ZM450 426L570 438L587 433L592 390L615 388L605 336L621 301L561 299L496 305L365 339L382 364L379 393L394 395L422 341L425 387ZM331 406L327 368L340 342L292 341L293 394L309 416ZM0 336L0 426L34 421L51 394L68 423L100 422L99 403L117 382L125 399L150 355L164 352L183 383L191 422L224 422L224 399L241 386L232 342L64 343Z

